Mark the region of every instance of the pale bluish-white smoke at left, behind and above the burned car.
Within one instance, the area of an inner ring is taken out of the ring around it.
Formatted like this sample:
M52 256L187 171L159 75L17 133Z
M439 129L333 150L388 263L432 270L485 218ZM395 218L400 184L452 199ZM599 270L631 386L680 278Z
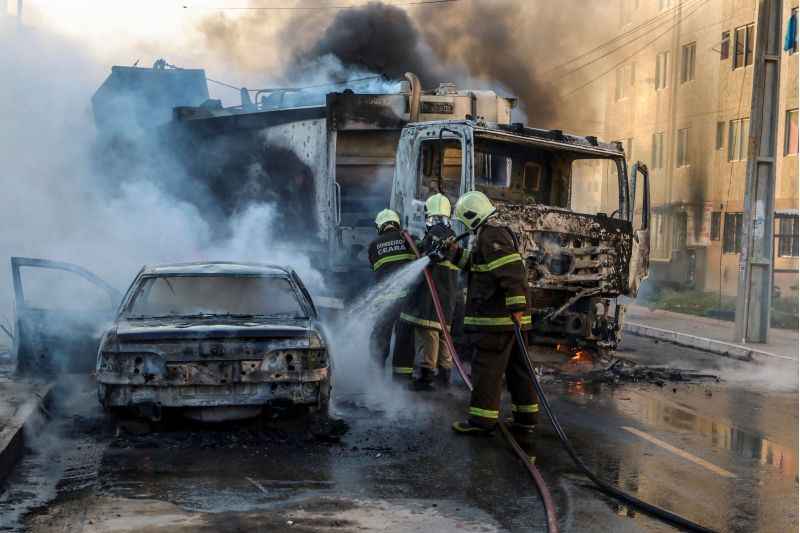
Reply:
M97 165L89 102L108 67L52 34L0 30L0 114L9 126L0 129L0 316L13 315L11 256L75 263L120 290L143 264L193 260L289 264L322 284L308 257L280 245L281 215L269 199L230 206L218 228L209 213L219 206L210 195L177 194L198 185L180 165L163 166L171 154L157 143L133 155L109 151L109 164Z

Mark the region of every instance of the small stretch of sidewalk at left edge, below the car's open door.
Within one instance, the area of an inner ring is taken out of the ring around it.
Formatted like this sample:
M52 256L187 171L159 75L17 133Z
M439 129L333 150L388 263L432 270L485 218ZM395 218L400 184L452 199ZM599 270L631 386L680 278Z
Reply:
M25 426L47 402L52 389L52 384L17 381L12 371L9 362L0 359L0 482L22 455Z

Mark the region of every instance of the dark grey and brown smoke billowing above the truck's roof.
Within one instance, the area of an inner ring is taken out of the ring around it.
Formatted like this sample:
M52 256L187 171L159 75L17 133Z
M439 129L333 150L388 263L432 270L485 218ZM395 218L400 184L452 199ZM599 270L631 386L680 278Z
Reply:
M496 0L402 9L369 2L293 16L267 17L254 11L231 18L218 13L199 29L210 49L239 68L277 74L287 83L312 74L342 81L364 72L396 80L410 71L425 88L453 81L462 88L516 96L536 126L575 124L572 129L586 131L587 121L597 118L603 95L588 93L587 98L583 93L579 106L560 105L562 88L577 87L590 74L562 80L551 71L616 29L614 10L601 4ZM259 57L252 53L254 47L269 53Z

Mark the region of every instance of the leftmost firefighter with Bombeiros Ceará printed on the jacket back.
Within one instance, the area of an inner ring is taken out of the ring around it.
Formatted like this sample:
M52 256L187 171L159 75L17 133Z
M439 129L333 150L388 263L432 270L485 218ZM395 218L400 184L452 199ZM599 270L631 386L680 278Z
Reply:
M378 237L369 245L369 262L378 283L392 273L416 259L414 252L403 237L400 216L391 209L384 209L375 217ZM413 372L413 331L408 325L398 322L406 297L406 291L391 291L379 294L381 316L376 318L370 336L370 354L383 368L389 352L392 329L395 329L395 355L393 374L409 379ZM395 327L395 323L397 326ZM411 364L406 361L411 358ZM400 361L401 363L398 363Z

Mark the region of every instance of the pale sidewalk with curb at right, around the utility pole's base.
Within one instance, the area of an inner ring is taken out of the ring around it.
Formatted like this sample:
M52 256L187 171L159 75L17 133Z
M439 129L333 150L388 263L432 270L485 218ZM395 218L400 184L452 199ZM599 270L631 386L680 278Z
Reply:
M733 322L629 304L625 331L744 360L798 359L798 332L770 329L766 344L733 342Z

